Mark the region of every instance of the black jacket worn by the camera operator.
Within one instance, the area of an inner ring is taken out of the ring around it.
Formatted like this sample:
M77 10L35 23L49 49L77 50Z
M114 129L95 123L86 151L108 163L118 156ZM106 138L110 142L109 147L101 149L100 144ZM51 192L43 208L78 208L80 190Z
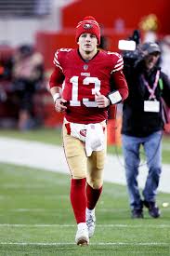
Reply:
M170 106L170 82L166 74L160 72L160 79L155 90L156 100L160 101L160 112L144 112L144 101L148 101L150 92L145 86L142 75L153 88L159 67L147 74L143 61L124 57L124 75L129 88L129 97L123 106L122 133L135 137L146 137L152 132L163 129L163 100ZM162 80L162 81L161 81Z

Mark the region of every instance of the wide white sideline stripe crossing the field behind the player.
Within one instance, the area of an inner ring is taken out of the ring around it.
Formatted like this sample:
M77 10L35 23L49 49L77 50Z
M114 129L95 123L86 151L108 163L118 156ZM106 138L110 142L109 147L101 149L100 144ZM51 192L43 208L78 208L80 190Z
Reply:
M31 168L43 168L49 171L67 173L67 166L63 150L59 146L45 144L36 141L24 141L0 137L0 162L27 166ZM123 159L120 157L121 162ZM104 181L125 185L124 168L120 160L114 155L107 155L104 171ZM147 167L141 167L138 175L138 184L144 186L147 177ZM159 190L170 193L170 165L163 164L163 172Z

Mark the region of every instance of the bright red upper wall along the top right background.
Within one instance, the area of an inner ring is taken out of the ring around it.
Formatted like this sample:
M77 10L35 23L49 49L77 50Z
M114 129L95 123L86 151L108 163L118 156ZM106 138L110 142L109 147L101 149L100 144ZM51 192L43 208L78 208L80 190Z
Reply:
M141 17L154 13L160 21L159 33L169 34L169 0L81 0L62 10L64 28L75 27L86 15L93 15L105 28L113 28L116 19L123 19L125 29L137 28Z

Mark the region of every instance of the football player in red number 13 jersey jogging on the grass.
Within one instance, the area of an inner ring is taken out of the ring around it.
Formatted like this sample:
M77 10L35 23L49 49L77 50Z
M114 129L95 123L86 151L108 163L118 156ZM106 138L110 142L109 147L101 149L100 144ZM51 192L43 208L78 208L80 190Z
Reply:
M56 51L49 86L56 111L64 113L63 145L72 177L75 242L88 245L102 191L108 108L124 101L128 88L122 56L98 50L100 28L92 16L78 23L75 39L78 48Z

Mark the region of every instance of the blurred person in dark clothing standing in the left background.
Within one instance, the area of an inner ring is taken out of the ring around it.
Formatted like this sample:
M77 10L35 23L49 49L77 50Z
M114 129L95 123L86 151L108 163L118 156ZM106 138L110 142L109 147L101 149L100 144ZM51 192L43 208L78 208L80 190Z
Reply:
M44 79L44 61L32 46L17 48L13 56L12 81L19 101L18 128L33 128L33 95Z

